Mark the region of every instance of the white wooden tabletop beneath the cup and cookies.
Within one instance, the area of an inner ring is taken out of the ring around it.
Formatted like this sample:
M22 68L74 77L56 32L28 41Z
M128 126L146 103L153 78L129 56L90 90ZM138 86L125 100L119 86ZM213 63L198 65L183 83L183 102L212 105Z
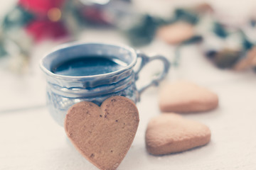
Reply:
M234 1L233 4L239 6L240 2ZM220 5L217 3L216 6ZM82 40L127 43L112 30L87 30ZM46 108L46 83L38 69L38 60L54 45L53 42L44 42L35 47L31 71L26 75L0 71L1 170L97 169L70 145L63 128L54 122ZM147 54L160 53L169 60L174 57L174 47L157 40L141 50ZM171 69L165 81L187 79L218 94L220 103L214 111L183 115L209 126L212 132L210 143L178 154L161 157L148 154L144 140L146 125L150 118L160 114L157 103L159 88L151 88L142 94L141 102L137 104L139 129L117 169L255 170L256 74L220 70L193 45L185 47L182 56L180 67ZM154 65L146 67L140 74L139 84L150 79L156 69Z

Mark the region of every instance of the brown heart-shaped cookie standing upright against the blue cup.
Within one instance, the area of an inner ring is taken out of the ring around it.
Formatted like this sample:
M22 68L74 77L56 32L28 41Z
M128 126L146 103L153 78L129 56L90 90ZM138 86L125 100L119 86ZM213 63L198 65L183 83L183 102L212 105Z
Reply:
M102 170L116 169L132 145L139 125L133 101L107 98L102 106L82 101L65 117L65 132L78 151Z

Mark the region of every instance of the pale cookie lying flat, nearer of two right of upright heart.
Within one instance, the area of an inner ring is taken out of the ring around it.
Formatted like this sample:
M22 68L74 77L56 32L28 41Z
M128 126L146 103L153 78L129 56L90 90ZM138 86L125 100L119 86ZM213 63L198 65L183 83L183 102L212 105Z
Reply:
M210 142L206 125L163 113L150 120L146 129L146 149L154 155L182 152Z

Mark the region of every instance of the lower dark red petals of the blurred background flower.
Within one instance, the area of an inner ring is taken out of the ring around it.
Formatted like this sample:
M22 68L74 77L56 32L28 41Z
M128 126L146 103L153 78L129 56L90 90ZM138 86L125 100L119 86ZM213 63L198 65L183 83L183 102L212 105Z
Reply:
M68 30L60 21L32 21L26 26L26 31L33 35L37 42L46 38L58 39L68 35Z

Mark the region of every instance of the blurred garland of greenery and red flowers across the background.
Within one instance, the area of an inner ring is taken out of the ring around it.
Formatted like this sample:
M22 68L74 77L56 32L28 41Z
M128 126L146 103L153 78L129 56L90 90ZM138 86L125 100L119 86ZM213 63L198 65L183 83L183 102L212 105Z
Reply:
M8 56L15 63L12 69L20 72L26 68L36 43L76 40L91 25L115 28L134 46L162 39L176 47L176 67L182 48L193 44L222 69L256 67L256 18L248 18L245 26L230 26L215 17L209 4L176 8L169 18L160 18L135 11L127 0L104 4L93 0L18 0L1 19L0 57Z

